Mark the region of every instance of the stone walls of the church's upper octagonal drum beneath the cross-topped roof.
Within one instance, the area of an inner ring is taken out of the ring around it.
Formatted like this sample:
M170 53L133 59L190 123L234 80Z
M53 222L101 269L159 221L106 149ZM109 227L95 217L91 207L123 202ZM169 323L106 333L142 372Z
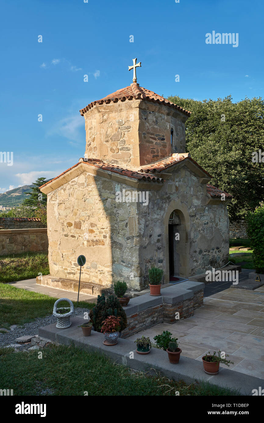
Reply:
M133 99L95 105L84 118L86 159L138 168L172 153L185 153L187 116L172 107Z

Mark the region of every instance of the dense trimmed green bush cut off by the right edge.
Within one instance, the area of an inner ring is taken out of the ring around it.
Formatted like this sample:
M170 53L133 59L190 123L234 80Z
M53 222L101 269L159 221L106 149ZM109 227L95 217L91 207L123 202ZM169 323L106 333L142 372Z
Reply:
M253 250L252 258L257 273L264 273L264 202L247 215L247 235Z

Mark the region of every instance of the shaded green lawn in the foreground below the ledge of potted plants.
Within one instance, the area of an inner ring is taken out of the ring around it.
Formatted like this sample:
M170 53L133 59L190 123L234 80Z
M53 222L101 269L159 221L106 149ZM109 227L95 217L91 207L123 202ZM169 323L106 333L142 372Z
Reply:
M8 351L7 351L8 350ZM39 352L0 349L0 380L14 396L230 396L227 388L196 382L186 385L160 374L149 376L113 363L97 352L50 345ZM202 363L201 363L202 365Z

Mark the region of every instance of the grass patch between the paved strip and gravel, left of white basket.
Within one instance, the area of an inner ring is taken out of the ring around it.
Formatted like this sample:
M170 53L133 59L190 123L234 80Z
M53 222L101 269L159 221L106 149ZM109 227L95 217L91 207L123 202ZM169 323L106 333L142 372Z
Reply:
M8 329L11 324L22 325L37 317L49 316L53 312L53 305L57 299L0 283L0 327ZM73 305L76 307L77 302L73 301ZM61 301L59 306L69 307L69 303ZM78 307L92 308L94 304L79 301Z

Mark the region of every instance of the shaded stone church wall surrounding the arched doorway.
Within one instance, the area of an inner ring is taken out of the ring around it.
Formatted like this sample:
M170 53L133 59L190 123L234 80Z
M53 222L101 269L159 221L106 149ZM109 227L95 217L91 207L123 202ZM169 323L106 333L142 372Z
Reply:
M228 262L229 228L225 204L207 204L209 196L206 184L190 170L175 169L173 177L165 181L161 191L149 192L149 204L139 204L138 227L141 228L140 264L142 286L148 285L148 268L158 266L164 270L164 281L168 280L168 232L164 225L165 214L171 204L178 204L186 222L180 227L178 250L180 275L193 276L211 267L218 268ZM172 208L173 210L173 208ZM172 211L171 210L171 211ZM188 222L189 221L189 222Z

